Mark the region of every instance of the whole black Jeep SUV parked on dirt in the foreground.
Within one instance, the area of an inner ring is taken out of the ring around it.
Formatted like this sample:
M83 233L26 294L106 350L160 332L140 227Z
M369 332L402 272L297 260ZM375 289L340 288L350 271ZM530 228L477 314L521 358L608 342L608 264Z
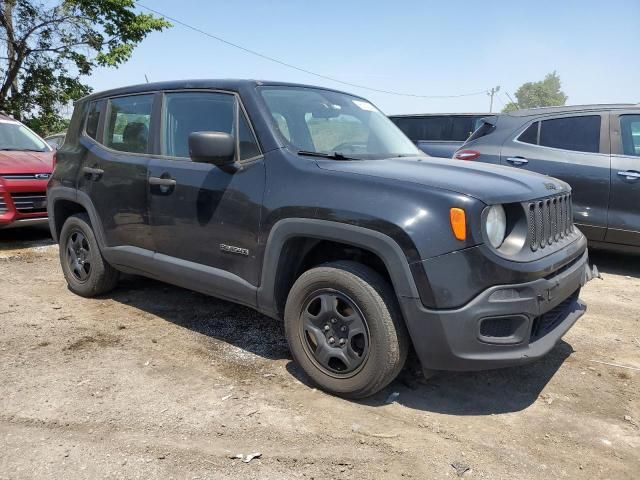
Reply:
M77 102L48 189L69 288L145 275L281 318L320 387L515 365L584 313L566 183L425 157L377 108L284 83L146 84Z

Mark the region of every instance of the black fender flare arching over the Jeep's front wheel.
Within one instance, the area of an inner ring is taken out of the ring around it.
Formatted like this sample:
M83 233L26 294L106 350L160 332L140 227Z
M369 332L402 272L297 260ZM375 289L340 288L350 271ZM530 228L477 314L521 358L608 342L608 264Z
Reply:
M281 317L276 305L276 281L280 255L285 243L296 237L330 240L352 245L376 254L383 261L398 300L419 298L407 257L391 237L376 230L346 223L312 218L287 218L271 229L264 251L262 278L257 291L260 311ZM402 302L400 302L402 304Z

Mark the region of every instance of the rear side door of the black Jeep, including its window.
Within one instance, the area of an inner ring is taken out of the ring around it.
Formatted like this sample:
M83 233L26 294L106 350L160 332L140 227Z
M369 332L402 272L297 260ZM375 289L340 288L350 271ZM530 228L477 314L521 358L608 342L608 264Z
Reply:
M78 189L90 197L107 247L153 250L147 215L153 104L154 94L142 94L89 106Z

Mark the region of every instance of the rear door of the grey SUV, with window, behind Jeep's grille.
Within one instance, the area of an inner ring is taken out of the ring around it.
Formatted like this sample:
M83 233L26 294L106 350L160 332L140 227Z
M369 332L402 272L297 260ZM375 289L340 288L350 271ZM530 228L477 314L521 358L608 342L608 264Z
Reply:
M569 183L575 222L590 240L604 240L611 166L606 113L544 117L528 122L504 144L501 163Z

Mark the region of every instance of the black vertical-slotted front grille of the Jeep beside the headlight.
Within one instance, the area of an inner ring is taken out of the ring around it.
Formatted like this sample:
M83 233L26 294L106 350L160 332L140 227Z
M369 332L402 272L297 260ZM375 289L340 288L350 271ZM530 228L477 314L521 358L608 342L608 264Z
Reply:
M574 230L570 193L530 202L527 208L529 246L534 252L562 240Z

